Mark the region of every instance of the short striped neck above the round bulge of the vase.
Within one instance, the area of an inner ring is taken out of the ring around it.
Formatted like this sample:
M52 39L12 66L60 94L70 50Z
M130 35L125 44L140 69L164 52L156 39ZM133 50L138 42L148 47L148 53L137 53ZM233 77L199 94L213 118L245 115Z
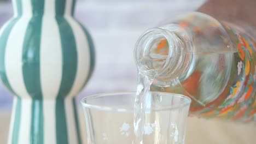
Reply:
M64 16L74 14L75 0L13 0L15 16Z

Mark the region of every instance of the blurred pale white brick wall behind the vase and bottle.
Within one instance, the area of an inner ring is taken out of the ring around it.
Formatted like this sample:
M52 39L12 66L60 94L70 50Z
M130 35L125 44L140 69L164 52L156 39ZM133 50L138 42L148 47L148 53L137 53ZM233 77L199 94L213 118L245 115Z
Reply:
M94 39L94 75L78 99L100 92L136 91L133 47L148 28L168 17L200 7L205 0L80 0L75 17ZM10 1L0 1L0 27L12 16ZM0 86L0 109L10 110L12 96Z

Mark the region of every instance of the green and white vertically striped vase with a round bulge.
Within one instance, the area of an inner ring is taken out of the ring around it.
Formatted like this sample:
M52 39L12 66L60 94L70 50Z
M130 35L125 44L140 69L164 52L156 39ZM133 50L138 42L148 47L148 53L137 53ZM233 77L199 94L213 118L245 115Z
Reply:
M74 97L94 69L75 0L13 0L0 30L0 75L15 95L8 143L82 143Z

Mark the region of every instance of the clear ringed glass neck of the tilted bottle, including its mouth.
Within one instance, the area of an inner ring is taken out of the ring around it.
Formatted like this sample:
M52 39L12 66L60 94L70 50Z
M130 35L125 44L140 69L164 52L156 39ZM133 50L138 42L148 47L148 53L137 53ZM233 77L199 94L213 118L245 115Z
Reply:
M135 58L139 73L158 81L181 77L191 64L192 46L179 33L165 28L152 28L137 41Z

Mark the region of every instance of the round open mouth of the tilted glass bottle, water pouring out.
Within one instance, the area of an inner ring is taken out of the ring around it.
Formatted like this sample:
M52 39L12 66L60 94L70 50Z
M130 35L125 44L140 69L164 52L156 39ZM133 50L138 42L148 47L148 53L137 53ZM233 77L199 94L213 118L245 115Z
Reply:
M140 72L159 75L167 67L172 56L170 40L170 34L161 28L149 29L142 35L135 49L135 58Z

